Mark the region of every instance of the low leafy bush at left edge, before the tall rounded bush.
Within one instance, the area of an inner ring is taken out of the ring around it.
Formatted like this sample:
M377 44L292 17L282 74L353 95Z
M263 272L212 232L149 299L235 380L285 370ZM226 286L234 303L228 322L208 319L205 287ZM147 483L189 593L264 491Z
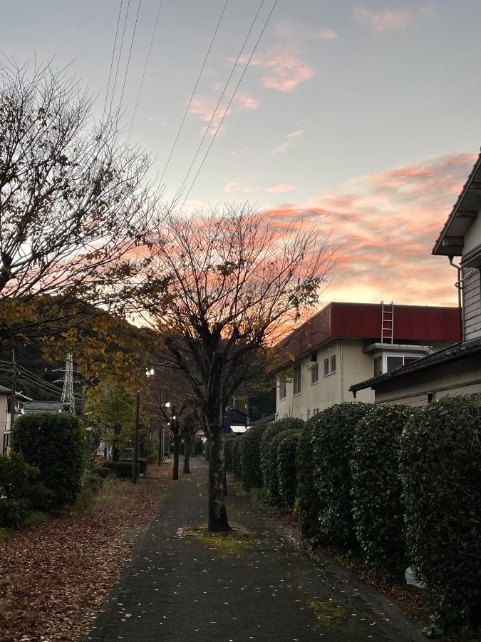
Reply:
M24 457L11 452L0 455L0 526L19 528L34 511L45 511L53 493L38 481L40 471Z

